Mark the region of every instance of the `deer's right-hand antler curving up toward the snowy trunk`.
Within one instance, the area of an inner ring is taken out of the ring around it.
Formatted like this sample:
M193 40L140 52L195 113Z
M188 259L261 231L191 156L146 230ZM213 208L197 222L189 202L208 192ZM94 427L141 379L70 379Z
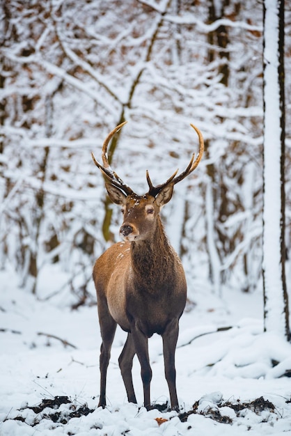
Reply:
M150 194L152 196L156 196L157 194L159 194L159 192L161 191L161 189L163 187L165 187L166 185L168 185L170 183L173 183L173 185L175 185L176 183L183 180L185 177L189 176L189 174L191 174L191 172L197 168L197 166L198 166L198 164L203 156L204 141L203 141L202 133L200 132L198 127L196 127L194 124L190 124L190 125L191 125L191 127L194 128L194 130L198 134L198 138L199 138L199 151L198 151L198 155L197 155L196 159L194 160L195 153L193 153L191 160L190 160L189 164L187 165L187 168L184 171L182 171L182 173L180 173L179 176L175 177L176 174L178 173L178 170L177 170L177 171L175 171L175 173L173 173L173 176L171 176L170 178L168 178L168 180L166 180L166 182L162 183L161 185L157 185L156 187L152 185L152 182L150 180L150 176L148 175L148 171L147 171L146 178L148 180L148 186L150 188L148 194Z

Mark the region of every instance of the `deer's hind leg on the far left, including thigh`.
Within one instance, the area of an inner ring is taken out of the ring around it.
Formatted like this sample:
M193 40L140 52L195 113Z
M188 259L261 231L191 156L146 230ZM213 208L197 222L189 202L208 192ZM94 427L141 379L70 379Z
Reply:
M100 348L100 400L99 406L105 407L106 405L106 379L107 368L111 354L111 345L116 332L116 321L113 320L107 306L106 299L98 299L98 315L100 323L100 332L102 337L102 344Z

